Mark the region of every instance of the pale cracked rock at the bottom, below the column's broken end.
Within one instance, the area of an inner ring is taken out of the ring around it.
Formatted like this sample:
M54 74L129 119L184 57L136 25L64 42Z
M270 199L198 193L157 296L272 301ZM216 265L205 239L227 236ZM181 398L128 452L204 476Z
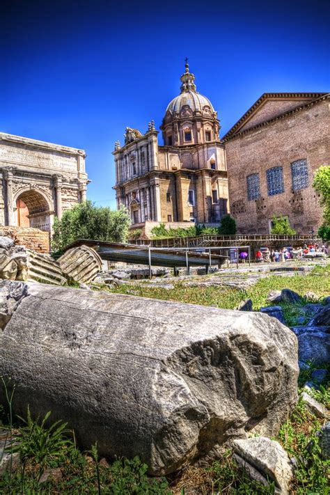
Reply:
M233 442L235 459L251 478L268 485L274 482L275 493L290 493L293 477L288 454L277 442L265 437L257 437ZM267 480L268 478L268 480Z

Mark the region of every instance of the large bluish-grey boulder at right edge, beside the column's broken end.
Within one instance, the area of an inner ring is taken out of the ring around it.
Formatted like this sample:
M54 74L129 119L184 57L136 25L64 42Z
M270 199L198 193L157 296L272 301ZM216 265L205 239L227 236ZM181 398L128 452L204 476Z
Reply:
M301 333L298 336L299 361L313 361L322 366L330 361L330 334L324 332Z

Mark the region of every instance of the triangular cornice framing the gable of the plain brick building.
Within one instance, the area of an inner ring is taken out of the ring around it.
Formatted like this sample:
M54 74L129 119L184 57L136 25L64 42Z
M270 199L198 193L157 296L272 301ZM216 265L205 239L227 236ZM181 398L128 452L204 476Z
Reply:
M241 127L241 125L244 123L244 121L250 116L251 113L253 113L257 107L259 107L260 103L266 100L268 97L315 97L315 100L312 102L308 102L306 104L302 104L300 107L297 107L295 109L285 111L281 113L281 115L278 115L274 118L271 118L269 120L265 120L265 122L253 125L252 127L249 127L249 129L245 129L242 131L235 132L235 129L238 129ZM223 136L221 139L221 143L228 143L228 141L231 141L232 139L237 138L238 136L243 136L244 134L249 134L250 132L255 131L256 129L259 129L260 127L265 127L268 124L272 124L276 122L276 120L281 120L283 118L286 118L293 113L298 113L301 110L304 110L308 107L313 107L314 104L317 104L319 102L322 102L324 100L327 100L330 98L330 93L264 93L262 97L259 98L259 100L246 112L244 113L244 116L237 121L237 123Z

